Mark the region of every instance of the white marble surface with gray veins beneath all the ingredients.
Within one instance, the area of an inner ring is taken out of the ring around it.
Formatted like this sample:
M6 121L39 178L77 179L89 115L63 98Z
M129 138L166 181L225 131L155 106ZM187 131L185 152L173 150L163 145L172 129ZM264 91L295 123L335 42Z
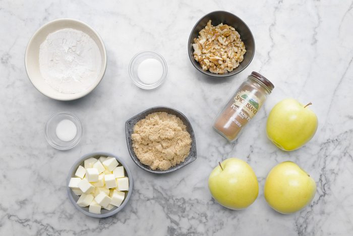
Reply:
M353 3L351 1L0 1L0 235L351 235L353 231ZM203 77L191 65L187 40L196 21L227 10L251 28L256 54L230 79ZM58 102L29 82L24 51L34 31L71 17L95 28L108 55L106 74L87 97ZM130 59L143 50L164 56L165 83L136 87ZM229 144L211 129L212 119L251 71L275 89L238 141ZM319 118L315 137L285 153L265 134L266 117L281 99L312 102ZM184 112L197 138L198 159L168 175L139 169L131 160L124 123L136 113L165 105ZM82 121L81 143L66 152L51 148L44 124L67 110ZM106 151L123 157L134 192L119 214L95 219L69 202L65 181L82 155ZM216 204L207 178L217 162L246 160L255 170L259 197L243 211ZM269 170L297 162L317 183L311 205L291 215L274 212L263 197ZM119 233L118 233L119 232Z

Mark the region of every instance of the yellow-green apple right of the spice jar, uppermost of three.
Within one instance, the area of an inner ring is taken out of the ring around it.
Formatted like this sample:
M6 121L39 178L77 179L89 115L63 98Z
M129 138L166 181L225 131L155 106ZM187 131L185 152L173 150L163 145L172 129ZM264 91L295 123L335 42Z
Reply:
M315 113L295 99L284 99L271 110L266 131L278 148L293 151L308 143L318 127Z

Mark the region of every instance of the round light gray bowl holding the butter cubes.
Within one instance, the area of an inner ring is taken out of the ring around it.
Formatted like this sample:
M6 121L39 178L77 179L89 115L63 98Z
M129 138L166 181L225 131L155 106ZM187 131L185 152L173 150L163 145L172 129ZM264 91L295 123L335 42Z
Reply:
M76 204L77 200L79 199L79 196L77 196L76 194L74 194L74 192L71 190L71 188L69 187L69 182L70 182L70 178L71 177L75 177L75 172L77 170L77 168L79 167L79 165L83 165L84 164L84 160L90 158L90 157L95 157L95 158L99 158L99 157L114 157L116 159L117 162L119 162L120 164L122 164L124 166L125 169L125 174L127 177L129 177L129 191L128 191L128 195L125 197L124 202L122 203L122 205L120 205L120 207L114 207L112 210L106 210L106 209L102 209L100 214L95 214L95 213L91 213L88 211L88 207L80 207ZM67 192L69 195L69 199L71 201L71 203L75 206L75 208L77 210L79 210L80 212L82 212L85 215L91 216L91 217L95 217L95 218L105 218L105 217L109 217L112 215L115 215L116 213L118 213L119 211L121 211L126 204L129 202L129 199L131 197L131 193L133 190L133 178L132 178L132 174L130 172L129 167L126 165L126 163L122 160L122 158L117 157L111 153L105 153L105 152L97 152L97 153L89 153L87 155L84 155L83 157L81 157L70 169L67 181L66 181L66 188L67 188Z

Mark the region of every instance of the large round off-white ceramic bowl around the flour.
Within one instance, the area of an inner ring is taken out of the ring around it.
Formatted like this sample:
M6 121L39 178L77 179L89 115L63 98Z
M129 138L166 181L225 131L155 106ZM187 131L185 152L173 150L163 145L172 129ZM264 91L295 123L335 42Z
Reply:
M86 34L88 34L97 44L101 60L102 66L97 76L95 82L88 87L85 91L79 93L61 93L55 89L53 89L49 84L47 84L42 77L39 69L39 48L40 44L45 40L49 33L53 33L57 30L65 29L65 28L72 28L76 30L80 30ZM75 20L75 19L56 19L50 21L40 27L31 37L28 42L26 53L25 53L25 67L26 72L29 77L29 80L32 82L35 88L38 89L43 95L61 101L70 101L82 98L90 93L102 80L103 75L106 69L106 51L103 40L100 38L98 33L91 28L89 25L83 23L82 21Z

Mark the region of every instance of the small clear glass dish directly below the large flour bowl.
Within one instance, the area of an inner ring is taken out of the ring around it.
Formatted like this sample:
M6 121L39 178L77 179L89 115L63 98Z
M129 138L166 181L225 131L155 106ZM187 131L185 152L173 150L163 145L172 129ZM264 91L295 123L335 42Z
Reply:
M71 120L74 122L77 128L76 136L70 141L63 141L56 136L57 124L64 120ZM52 114L45 124L45 139L55 149L58 150L69 150L75 147L81 140L82 137L82 124L80 120L70 112L57 112Z

